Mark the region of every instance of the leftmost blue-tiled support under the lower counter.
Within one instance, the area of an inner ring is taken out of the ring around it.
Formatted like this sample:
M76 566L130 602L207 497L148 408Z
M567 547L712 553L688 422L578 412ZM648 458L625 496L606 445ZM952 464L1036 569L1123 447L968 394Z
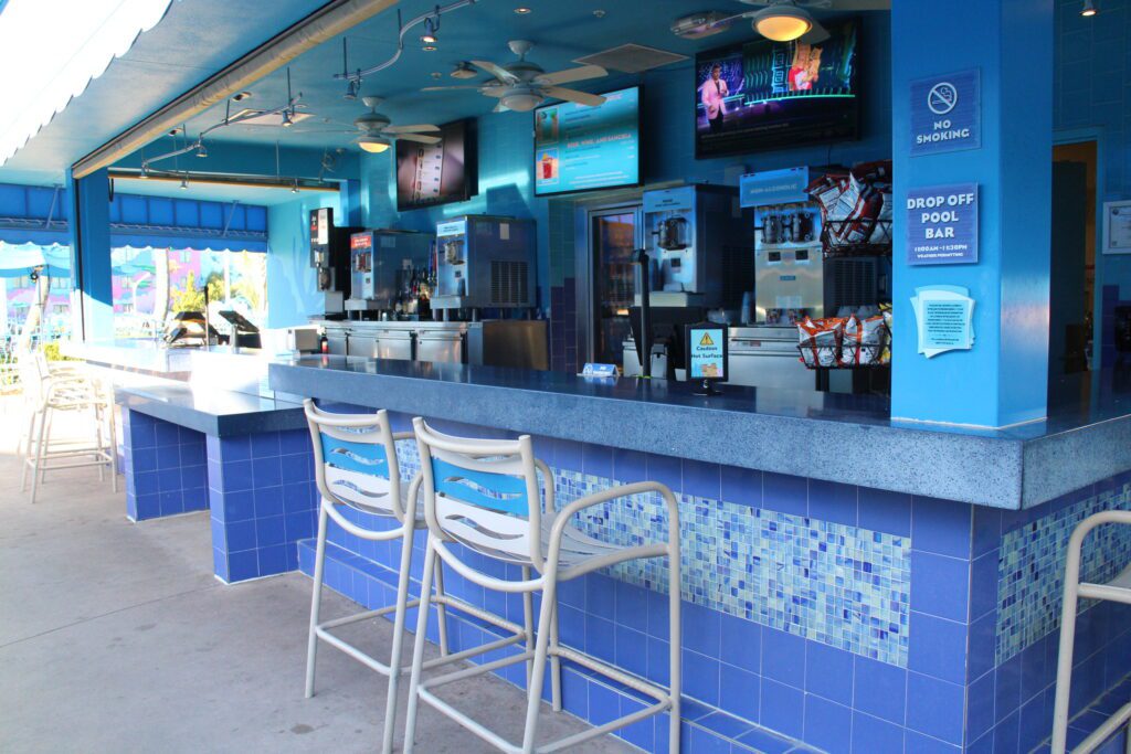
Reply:
M122 409L126 514L132 521L208 508L205 436Z

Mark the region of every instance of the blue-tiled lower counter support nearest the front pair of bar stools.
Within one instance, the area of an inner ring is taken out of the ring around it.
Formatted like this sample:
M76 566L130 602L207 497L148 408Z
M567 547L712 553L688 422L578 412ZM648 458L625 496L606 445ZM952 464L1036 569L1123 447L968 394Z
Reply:
M317 534L318 491L307 430L208 436L213 564L228 583L293 571Z

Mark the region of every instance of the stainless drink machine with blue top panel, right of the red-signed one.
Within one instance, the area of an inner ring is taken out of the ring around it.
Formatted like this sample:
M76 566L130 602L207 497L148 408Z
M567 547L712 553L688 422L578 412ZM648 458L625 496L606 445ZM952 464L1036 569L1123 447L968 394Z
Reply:
M432 307L525 309L535 305L534 222L467 215L437 225Z

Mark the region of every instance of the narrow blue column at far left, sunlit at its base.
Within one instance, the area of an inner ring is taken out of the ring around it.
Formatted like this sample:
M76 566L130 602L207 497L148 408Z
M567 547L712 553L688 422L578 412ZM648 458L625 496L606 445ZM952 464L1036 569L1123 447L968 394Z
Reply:
M71 197L71 315L76 338L114 337L110 260L110 176L105 170L81 179L67 173Z

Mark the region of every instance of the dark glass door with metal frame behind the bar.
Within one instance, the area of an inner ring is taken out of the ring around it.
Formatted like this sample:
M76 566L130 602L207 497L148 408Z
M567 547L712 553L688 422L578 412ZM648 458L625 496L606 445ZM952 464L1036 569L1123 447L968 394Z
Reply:
M636 294L633 252L642 245L640 205L588 213L592 361L624 365L624 341L632 335L629 311Z

